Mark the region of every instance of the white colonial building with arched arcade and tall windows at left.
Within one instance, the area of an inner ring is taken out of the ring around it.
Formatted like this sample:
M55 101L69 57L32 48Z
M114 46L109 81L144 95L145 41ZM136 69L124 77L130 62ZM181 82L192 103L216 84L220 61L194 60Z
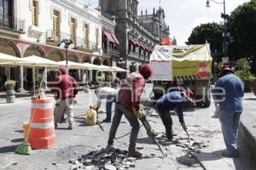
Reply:
M20 58L32 54L61 61L66 59L62 39L73 40L67 59L96 65L111 65L102 52L102 16L82 0L0 0L0 53ZM38 68L41 73L44 68ZM81 71L74 71L81 78ZM19 82L32 79L32 70L23 66L0 66L0 76L6 74ZM39 74L37 74L39 75ZM92 74L90 74L91 76ZM91 77L90 77L91 78Z

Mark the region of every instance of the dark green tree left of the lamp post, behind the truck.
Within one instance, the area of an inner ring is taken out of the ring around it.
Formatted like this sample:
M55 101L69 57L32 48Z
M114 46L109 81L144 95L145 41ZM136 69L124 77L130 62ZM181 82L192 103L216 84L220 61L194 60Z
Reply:
M211 45L212 54L221 55L223 44L222 32L223 26L218 23L201 24L201 26L196 26L192 30L189 41L186 44L201 44L207 41Z

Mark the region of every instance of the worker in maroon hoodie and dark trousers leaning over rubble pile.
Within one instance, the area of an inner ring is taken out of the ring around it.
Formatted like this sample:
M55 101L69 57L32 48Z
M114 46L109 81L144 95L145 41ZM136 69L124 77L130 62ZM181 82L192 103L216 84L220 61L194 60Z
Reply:
M108 137L108 147L113 144L113 139L120 120L123 115L130 122L131 136L128 153L131 157L141 157L142 154L135 150L137 142L137 134L139 132L140 124L137 116L140 115L140 98L143 94L145 80L152 75L152 68L150 65L143 65L139 72L132 72L126 79L117 95L115 104L114 116L112 126L110 128Z

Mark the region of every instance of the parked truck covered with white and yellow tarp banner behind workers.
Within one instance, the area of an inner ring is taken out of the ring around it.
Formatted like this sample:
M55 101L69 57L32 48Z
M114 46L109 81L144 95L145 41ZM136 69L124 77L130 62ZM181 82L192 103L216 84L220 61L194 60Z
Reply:
M183 88L190 88L195 104L201 107L211 105L210 78L212 57L209 44L200 45L156 45L149 64L154 70L154 99L166 94L177 82Z

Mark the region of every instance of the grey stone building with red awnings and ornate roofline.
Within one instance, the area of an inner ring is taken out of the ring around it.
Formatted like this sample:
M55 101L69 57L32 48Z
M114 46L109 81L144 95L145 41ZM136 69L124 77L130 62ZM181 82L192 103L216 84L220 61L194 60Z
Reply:
M137 0L99 0L102 13L115 18L115 32L120 42L118 66L130 71L137 71L139 65L147 63L154 45L170 35L162 8L153 14L146 12L138 16L137 5Z

